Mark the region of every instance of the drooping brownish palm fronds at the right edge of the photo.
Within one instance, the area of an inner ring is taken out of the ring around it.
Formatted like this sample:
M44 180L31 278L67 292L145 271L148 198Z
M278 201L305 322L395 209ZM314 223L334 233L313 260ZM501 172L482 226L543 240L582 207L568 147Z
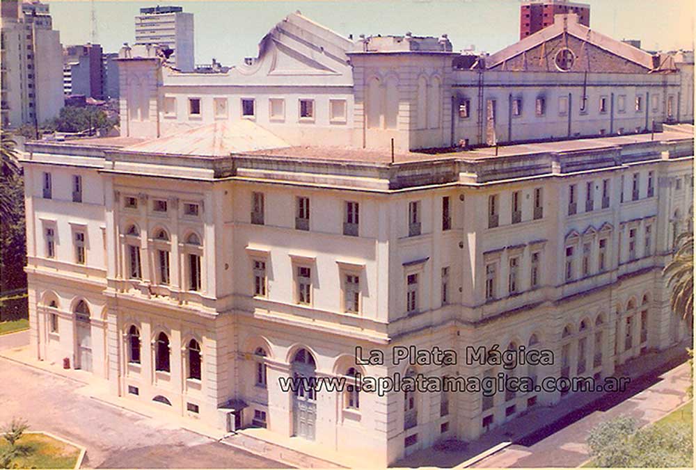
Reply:
M694 234L684 232L677 237L679 250L674 254L663 273L669 275L667 286L672 288L672 311L686 320L693 315L694 307Z

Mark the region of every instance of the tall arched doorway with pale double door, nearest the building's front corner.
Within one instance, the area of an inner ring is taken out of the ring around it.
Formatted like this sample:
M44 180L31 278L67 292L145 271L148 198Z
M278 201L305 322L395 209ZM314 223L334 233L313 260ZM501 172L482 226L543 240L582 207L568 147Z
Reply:
M292 397L293 435L313 441L317 422L317 391L314 377L317 363L312 354L301 349L292 359L296 390Z

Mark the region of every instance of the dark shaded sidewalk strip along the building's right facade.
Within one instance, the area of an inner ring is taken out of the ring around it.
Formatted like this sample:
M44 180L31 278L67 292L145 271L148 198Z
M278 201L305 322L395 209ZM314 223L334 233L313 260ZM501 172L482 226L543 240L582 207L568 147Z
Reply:
M656 373L669 371L671 368L686 361L688 359L686 354L687 347L691 347L691 345L689 342L684 341L661 353L649 353L632 359L626 362L626 364L619 366L617 371L615 371L615 376L629 377L631 378L631 383L640 384L642 382L640 377L649 377ZM598 409L608 410L608 408L621 403L627 398L623 394L606 396L598 392L578 395L569 396L554 406L538 407L526 414L522 414L503 426L487 432L480 439L468 442L466 451L447 452L427 448L395 462L393 467L458 467L493 447L500 446L500 448L505 448L503 445L505 443L508 443L508 445L519 444L516 447L532 446L537 441L569 426L571 423L583 418L583 416L587 416L587 414ZM466 463L468 463L467 467L477 464L477 462L472 461ZM546 465L542 466L546 467ZM498 465L495 465L495 467L498 467Z

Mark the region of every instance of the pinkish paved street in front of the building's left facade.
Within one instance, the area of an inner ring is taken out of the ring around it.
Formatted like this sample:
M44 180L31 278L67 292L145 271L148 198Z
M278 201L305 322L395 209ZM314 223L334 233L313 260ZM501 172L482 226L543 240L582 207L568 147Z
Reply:
M2 343L6 345L7 339ZM87 448L83 467L287 468L79 394L82 384L0 358L0 423L22 417Z

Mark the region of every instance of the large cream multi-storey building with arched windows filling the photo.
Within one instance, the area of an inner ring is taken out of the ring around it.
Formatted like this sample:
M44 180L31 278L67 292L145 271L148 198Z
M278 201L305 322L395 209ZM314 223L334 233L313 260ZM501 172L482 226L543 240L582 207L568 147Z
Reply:
M677 109L676 67L565 19L537 33L586 38L551 56L555 72L524 70L518 49L470 70L444 37L353 41L299 14L226 74L122 50L122 136L26 146L35 354L182 419L372 466L574 394L288 393L280 379L603 380L670 348L685 325L661 270L693 224L693 126L663 122L693 102ZM537 35L516 47L541 66ZM626 70L565 72L585 51ZM464 360L496 344L555 361ZM356 346L385 361L356 364ZM394 364L395 346L459 360Z

